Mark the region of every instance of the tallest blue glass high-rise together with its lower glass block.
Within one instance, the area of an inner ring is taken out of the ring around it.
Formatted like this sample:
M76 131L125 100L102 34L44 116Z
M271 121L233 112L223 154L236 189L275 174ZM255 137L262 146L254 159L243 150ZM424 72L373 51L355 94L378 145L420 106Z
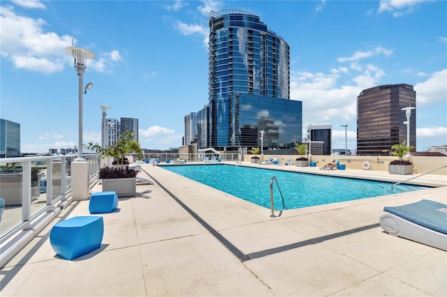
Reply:
M240 10L212 11L209 24L207 146L261 146L261 131L266 147L301 141L302 102L290 100L286 41Z

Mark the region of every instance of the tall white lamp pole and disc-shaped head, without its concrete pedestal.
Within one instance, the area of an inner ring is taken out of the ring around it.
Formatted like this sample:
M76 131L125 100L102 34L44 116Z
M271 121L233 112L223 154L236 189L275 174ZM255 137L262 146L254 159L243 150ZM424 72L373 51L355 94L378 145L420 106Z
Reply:
M93 59L95 54L89 50L85 50L82 47L66 47L66 52L71 54L75 59L75 70L79 77L79 142L78 142L78 158L75 158L75 162L85 162L82 158L82 88L84 83L82 82L82 76L87 69L87 59ZM93 86L91 82L85 86L85 91Z

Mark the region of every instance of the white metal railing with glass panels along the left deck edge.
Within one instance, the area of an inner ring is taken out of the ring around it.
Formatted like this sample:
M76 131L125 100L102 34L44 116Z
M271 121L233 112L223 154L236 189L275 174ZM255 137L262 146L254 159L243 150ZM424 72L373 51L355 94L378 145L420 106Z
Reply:
M71 193L71 162L77 155L0 158L0 244L58 206ZM96 178L100 155L84 155L89 180ZM64 206L62 206L64 205Z

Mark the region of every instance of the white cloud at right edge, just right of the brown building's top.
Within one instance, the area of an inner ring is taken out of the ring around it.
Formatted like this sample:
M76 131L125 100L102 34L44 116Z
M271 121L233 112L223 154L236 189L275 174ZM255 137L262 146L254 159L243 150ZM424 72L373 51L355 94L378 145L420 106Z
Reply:
M418 105L447 101L447 69L430 75L425 82L418 82L414 86Z

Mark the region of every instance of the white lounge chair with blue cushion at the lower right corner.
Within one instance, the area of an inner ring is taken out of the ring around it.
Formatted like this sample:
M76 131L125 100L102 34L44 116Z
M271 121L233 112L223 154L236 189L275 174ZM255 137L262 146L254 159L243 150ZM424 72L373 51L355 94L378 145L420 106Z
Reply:
M380 225L388 234L447 251L447 205L421 200L403 206L385 207Z

